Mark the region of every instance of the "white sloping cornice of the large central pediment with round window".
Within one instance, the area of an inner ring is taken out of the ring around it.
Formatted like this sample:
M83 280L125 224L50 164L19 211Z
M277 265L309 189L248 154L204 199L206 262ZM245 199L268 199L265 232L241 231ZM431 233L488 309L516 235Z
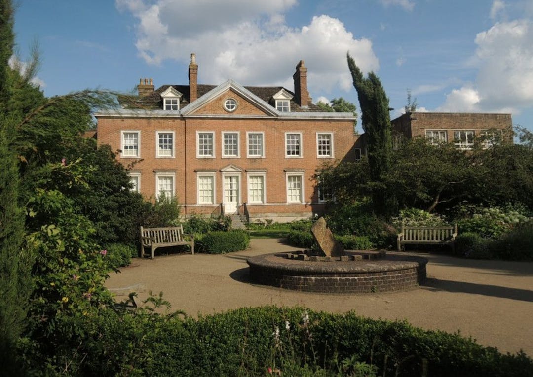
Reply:
M217 98L229 92L231 92L234 95L237 95L241 100L244 100L249 104L252 104L255 109L260 110L266 116L279 115L279 112L276 109L274 109L270 104L266 103L265 101L260 99L258 96L256 96L254 93L246 89L244 86L236 83L233 80L225 81L219 86L211 89L211 91L207 92L203 96L199 97L196 101L188 104L181 110L181 114L182 116L188 116L188 115L198 113L198 111L201 108L203 108L203 106L207 105L208 103L216 100ZM221 115L231 117L234 114L233 113L227 113L227 114L221 113Z

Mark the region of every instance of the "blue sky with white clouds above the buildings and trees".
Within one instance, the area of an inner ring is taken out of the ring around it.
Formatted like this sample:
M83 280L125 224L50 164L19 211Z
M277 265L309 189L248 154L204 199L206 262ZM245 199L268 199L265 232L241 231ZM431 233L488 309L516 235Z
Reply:
M22 61L38 41L48 96L187 84L195 52L199 83L292 90L303 59L314 101L359 107L349 51L392 118L410 89L419 110L510 112L533 130L533 0L20 0L15 33Z

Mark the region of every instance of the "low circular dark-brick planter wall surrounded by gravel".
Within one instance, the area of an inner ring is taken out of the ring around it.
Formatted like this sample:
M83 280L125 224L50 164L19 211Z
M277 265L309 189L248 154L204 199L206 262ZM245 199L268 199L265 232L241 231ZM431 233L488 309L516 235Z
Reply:
M367 293L424 283L427 259L386 255L378 260L311 261L277 253L251 257L247 263L254 283L308 292Z

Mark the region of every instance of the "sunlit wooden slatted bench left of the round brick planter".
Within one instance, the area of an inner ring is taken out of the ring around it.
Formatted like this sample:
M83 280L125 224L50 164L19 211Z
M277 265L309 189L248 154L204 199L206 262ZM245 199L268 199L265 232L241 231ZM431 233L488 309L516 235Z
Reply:
M189 245L191 253L195 253L195 239L192 234L183 233L181 225L167 228L143 228L141 226L141 258L150 256L154 259L157 248L179 245ZM144 248L150 248L150 253L145 253Z

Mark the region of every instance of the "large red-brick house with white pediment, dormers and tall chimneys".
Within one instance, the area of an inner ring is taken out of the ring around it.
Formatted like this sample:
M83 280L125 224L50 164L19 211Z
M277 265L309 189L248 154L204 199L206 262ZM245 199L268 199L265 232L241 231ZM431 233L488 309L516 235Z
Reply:
M277 221L324 211L331 191L313 176L323 163L360 155L352 113L321 112L296 65L294 91L284 87L141 79L123 109L98 112L98 144L120 150L135 189L147 198L177 196L185 215L240 214Z

